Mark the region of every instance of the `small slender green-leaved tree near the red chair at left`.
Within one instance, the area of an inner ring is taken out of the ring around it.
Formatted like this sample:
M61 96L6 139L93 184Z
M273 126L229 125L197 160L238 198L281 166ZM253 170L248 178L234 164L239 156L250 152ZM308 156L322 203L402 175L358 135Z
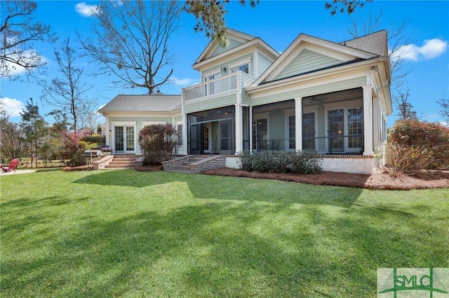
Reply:
M29 99L25 110L22 110L20 115L22 115L22 127L25 130L25 139L29 144L29 156L31 157L31 167L33 167L34 155L39 147L38 141L47 134L46 122L39 114L39 107L34 105L32 98Z

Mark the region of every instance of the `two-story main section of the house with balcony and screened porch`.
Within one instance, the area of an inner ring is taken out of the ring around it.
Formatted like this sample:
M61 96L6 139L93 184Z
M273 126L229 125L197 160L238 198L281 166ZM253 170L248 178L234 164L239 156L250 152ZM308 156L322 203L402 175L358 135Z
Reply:
M343 43L300 34L281 54L227 38L208 44L193 64L201 83L182 90L182 154L316 150L324 169L375 171L391 114L387 31Z

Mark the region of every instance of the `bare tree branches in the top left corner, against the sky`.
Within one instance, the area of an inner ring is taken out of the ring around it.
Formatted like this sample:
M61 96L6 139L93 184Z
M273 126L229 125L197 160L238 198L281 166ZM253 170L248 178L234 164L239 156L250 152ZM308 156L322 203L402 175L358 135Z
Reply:
M2 0L0 24L0 77L15 79L22 71L32 73L46 64L33 41L52 39L51 27L34 20L37 3Z

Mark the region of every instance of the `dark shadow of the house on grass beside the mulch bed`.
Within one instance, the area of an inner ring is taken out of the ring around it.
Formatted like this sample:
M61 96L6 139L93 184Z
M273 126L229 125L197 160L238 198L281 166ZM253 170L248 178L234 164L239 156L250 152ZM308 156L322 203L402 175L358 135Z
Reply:
M290 183L279 180L232 178L201 174L102 171L85 176L74 183L114 185L123 187L166 187L170 183L185 183L189 191L200 199L239 201L267 201L276 204L316 204L350 208L363 189ZM279 185L274 186L273 185ZM163 188L158 188L163 190ZM280 193L279 190L282 190ZM232 190L232 191L229 191Z

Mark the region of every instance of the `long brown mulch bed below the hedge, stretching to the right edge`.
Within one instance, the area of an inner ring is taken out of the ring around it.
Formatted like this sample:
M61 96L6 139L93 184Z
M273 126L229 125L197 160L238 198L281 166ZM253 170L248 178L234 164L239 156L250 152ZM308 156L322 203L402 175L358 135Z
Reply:
M321 174L257 173L239 169L214 169L201 172L206 175L275 179L309 183L314 185L336 185L361 187L373 190L417 190L449 187L449 171L419 171L413 175L393 179L385 171L374 175L337 173L323 171Z

